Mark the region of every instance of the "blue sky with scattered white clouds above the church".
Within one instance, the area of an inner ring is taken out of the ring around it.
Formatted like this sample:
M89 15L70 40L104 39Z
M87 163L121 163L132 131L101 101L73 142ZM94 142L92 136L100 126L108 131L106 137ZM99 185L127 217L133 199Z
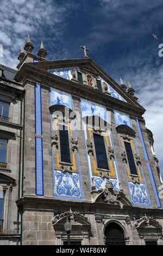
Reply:
M130 81L147 109L146 126L154 134L155 154L163 174L162 0L5 0L0 10L0 63L16 69L27 34L36 54L43 40L47 59L83 58L80 45L120 83ZM155 40L152 33L159 40Z

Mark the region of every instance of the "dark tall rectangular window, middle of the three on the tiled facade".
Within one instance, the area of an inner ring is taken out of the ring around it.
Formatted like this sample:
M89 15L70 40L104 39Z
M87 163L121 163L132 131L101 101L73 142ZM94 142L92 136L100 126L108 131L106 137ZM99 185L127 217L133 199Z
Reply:
M104 137L93 133L93 139L95 142L97 167L109 170L108 159L107 159L105 143L104 143Z

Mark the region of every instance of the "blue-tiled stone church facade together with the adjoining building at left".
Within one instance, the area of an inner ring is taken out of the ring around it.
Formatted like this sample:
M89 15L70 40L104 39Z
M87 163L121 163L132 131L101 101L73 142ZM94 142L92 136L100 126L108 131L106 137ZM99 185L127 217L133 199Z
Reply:
M0 65L0 244L163 245L162 179L145 113L86 55L27 43Z

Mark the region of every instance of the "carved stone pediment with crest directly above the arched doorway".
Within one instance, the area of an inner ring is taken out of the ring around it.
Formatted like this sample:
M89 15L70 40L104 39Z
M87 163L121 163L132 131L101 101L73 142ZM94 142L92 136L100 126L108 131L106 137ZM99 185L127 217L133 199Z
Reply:
M123 208L123 205L132 206L129 200L126 198L123 191L117 192L113 189L112 182L106 182L105 188L101 188L98 191L93 191L94 194L97 194L95 198L95 202L112 204L112 205L120 205ZM92 193L92 194L93 194Z

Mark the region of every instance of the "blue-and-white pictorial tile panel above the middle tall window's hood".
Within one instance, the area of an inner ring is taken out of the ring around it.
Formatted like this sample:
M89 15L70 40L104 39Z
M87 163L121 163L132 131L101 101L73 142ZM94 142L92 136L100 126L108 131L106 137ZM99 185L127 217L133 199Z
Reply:
M86 100L80 100L81 107L82 107L82 117L87 117L90 115L98 115L98 117L101 117L105 121L107 120L107 111L105 107L99 106L93 102L86 101Z

